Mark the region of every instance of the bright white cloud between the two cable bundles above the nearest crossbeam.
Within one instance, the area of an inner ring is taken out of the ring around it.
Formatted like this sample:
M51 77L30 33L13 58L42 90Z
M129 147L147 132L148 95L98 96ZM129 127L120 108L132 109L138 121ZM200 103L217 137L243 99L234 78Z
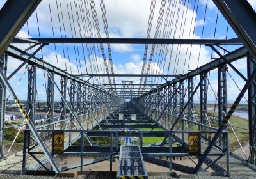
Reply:
M117 30L123 38L146 37L150 1L110 0L105 2L111 32Z

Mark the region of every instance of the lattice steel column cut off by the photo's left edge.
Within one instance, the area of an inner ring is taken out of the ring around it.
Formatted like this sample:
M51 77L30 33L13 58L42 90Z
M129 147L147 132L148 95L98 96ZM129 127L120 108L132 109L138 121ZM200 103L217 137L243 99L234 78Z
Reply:
M5 52L0 56L0 68L6 76L8 54ZM6 88L4 82L0 79L0 160L4 159L4 121L5 121L5 104L6 104Z

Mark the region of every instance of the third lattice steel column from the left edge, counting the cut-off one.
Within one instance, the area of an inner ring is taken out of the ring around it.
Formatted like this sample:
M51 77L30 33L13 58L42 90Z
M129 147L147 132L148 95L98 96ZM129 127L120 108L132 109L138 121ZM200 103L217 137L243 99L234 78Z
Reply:
M53 72L51 72L51 76L52 78L54 78ZM47 115L47 120L48 120L48 123L51 123L54 118L54 84L49 76L47 77L47 107L49 110L49 113Z

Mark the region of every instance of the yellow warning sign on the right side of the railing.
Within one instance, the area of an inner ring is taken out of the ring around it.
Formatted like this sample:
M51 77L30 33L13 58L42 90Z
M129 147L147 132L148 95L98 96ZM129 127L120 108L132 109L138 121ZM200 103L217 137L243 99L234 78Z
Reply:
M189 133L188 150L189 155L200 155L200 135L198 132Z

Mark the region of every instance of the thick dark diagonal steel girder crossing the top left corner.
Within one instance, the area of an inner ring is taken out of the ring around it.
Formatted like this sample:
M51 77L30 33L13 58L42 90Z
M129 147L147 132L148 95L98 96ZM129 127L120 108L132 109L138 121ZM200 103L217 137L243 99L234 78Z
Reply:
M0 10L0 55L29 19L41 0L8 0Z

